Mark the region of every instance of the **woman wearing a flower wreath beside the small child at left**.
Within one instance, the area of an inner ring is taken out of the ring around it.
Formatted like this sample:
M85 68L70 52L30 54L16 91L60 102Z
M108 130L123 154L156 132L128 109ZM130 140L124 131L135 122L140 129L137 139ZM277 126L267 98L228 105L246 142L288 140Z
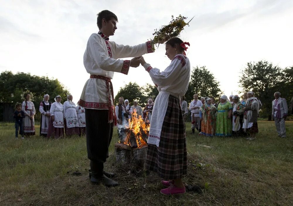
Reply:
M32 101L30 101L31 94L30 92L24 94L25 100L22 103L21 110L25 114L25 118L23 120L23 128L24 135L30 136L35 135L35 118L36 114L35 105Z

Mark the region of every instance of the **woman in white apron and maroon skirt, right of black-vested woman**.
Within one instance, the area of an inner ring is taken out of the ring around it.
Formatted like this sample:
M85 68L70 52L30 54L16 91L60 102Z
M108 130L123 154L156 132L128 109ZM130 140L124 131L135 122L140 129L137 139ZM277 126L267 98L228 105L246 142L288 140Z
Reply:
M61 104L61 96L54 98L55 102L51 104L50 121L47 137L55 136L59 138L64 136L64 111L63 104Z

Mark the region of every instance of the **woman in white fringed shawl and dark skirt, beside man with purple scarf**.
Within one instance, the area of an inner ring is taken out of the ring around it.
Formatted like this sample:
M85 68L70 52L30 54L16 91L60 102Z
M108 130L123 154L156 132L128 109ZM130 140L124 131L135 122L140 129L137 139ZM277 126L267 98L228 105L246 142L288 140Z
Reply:
M253 97L253 92L247 92L247 102L244 111L244 122L243 129L244 131L248 130L250 137L246 138L247 140L255 140L256 133L258 133L257 118L259 112L259 102L258 99Z

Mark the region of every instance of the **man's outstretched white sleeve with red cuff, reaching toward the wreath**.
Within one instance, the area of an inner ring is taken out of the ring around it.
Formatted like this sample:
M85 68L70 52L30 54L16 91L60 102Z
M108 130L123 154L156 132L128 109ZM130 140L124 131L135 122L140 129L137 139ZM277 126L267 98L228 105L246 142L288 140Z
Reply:
M115 50L115 56L117 58L135 57L135 56L140 56L143 54L154 52L151 41L143 43L143 44L138 44L136 46L129 46L129 45L124 46L124 45L116 44L115 42L109 42L109 43L112 45L113 49Z

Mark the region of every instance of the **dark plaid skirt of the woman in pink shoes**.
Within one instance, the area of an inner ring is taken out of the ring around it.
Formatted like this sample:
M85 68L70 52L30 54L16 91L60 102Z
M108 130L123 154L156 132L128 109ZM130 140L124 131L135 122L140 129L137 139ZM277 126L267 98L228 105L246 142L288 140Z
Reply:
M187 174L185 126L180 101L173 95L169 96L159 147L148 144L146 169L164 179L178 179Z

